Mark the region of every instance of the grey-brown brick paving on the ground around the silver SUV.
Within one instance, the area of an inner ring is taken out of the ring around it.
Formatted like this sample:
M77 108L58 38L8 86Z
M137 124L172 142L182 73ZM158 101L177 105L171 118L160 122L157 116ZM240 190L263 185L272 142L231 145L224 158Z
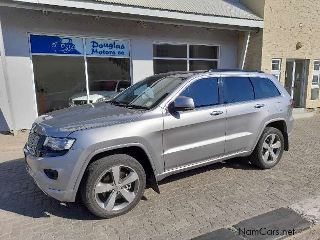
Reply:
M160 195L147 189L135 209L112 219L39 190L22 158L26 137L0 135L2 239L189 239L320 195L320 115L295 121L290 151L275 168L235 158L179 173L160 183Z

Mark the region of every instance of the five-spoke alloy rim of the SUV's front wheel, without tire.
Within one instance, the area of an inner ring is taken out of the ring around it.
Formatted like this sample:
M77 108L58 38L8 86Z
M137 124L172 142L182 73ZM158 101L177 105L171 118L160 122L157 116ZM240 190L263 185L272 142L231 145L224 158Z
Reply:
M128 166L114 166L105 171L95 185L96 203L104 210L121 210L135 199L139 189L138 174Z

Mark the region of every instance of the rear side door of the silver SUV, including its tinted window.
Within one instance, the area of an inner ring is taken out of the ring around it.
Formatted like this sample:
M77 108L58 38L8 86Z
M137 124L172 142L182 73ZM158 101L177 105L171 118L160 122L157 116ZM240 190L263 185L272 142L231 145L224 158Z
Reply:
M269 120L266 101L256 99L249 77L226 76L222 80L227 111L225 154L250 151Z

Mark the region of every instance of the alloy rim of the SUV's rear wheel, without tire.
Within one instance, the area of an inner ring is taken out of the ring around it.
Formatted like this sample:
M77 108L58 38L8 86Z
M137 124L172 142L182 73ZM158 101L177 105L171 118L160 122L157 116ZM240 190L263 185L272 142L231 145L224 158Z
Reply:
M277 134L268 135L262 145L262 158L267 164L271 164L278 159L281 152L281 141Z

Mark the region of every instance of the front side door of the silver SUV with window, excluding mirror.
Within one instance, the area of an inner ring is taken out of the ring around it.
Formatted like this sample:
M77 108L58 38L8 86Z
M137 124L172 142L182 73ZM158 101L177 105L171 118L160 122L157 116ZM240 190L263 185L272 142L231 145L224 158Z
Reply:
M193 98L195 109L175 113L164 109L166 171L224 154L226 107L218 86L217 77L197 79L177 95Z

